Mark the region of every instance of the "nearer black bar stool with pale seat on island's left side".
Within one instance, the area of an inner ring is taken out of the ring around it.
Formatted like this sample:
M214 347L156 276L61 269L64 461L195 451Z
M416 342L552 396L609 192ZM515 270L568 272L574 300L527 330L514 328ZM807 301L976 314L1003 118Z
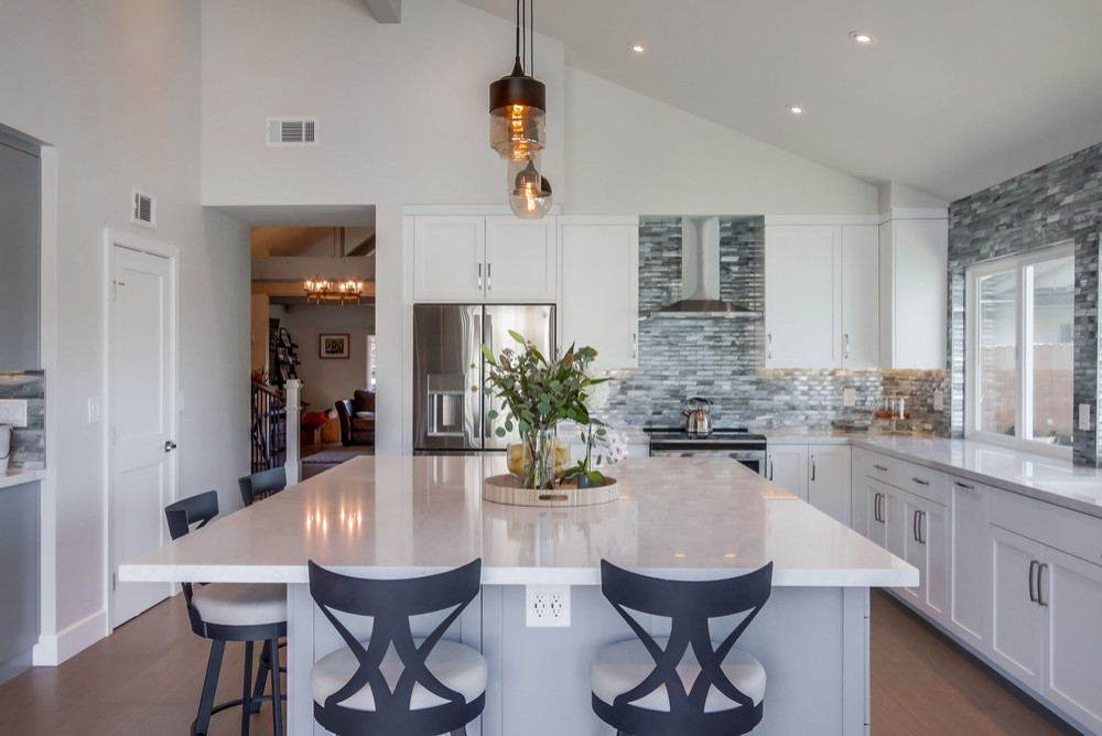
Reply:
M180 539L191 531L192 524L199 529L218 516L218 494L208 490L176 501L164 509L172 539ZM272 728L276 736L283 733L283 696L280 693L279 673L272 673L272 694L262 694L262 683L271 669L268 661L261 662L257 672L257 690L252 686L252 643L263 641L266 649L278 651L280 637L287 636L287 586L261 583L184 583L184 600L192 630L210 639L210 656L207 659L203 694L199 696L198 714L192 723L192 734L206 734L210 716L226 708L241 706L241 733L249 733L249 716L260 710L260 703L272 703ZM218 672L227 641L245 642L245 686L240 700L214 705L218 688Z

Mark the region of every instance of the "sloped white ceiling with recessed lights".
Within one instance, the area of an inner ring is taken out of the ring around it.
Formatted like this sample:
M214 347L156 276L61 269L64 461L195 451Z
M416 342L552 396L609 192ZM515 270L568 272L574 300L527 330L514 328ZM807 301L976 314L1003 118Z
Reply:
M1102 141L1102 0L551 0L534 20L573 67L946 201Z

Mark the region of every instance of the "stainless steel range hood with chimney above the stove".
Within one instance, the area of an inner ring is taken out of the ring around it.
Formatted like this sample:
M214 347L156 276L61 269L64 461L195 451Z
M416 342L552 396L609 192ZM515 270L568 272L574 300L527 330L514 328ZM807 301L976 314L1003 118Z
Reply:
M681 218L681 299L645 316L756 317L748 306L720 299L720 218Z

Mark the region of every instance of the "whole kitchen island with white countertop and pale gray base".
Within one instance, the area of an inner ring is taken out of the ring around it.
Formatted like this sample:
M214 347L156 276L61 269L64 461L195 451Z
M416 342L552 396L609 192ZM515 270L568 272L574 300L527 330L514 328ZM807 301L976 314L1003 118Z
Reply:
M288 583L290 733L309 734L322 733L311 663L342 645L306 561L415 576L480 556L483 592L455 634L489 664L482 733L582 735L611 733L590 710L592 654L633 636L601 596L603 558L683 580L773 561L773 597L738 645L769 678L755 733L865 733L868 588L916 585L915 567L728 459L631 458L612 468L617 500L550 509L484 502L483 478L504 465L359 457L130 561L120 580ZM570 586L569 627L526 626L530 585Z

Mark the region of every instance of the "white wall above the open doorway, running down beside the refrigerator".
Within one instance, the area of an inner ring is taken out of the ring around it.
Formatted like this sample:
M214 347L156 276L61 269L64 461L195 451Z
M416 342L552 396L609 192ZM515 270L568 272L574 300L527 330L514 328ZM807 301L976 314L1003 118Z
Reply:
M501 204L489 83L512 68L512 24L454 0L406 0L380 25L363 0L203 0L203 201L376 205L380 453L401 451L402 207ZM548 87L543 166L563 181L563 47L537 39ZM266 149L267 116L318 116L316 148ZM388 387L390 390L388 390Z

